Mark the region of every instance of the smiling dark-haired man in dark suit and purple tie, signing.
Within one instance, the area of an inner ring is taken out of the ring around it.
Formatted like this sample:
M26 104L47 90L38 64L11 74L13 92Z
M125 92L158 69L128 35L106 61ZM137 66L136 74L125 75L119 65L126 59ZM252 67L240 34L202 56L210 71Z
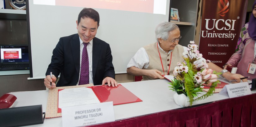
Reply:
M80 76L88 77L88 83L94 85L105 85L107 83L112 87L118 86L114 79L115 70L112 64L110 46L95 37L99 22L99 14L92 8L84 8L79 13L76 21L78 34L61 37L52 52L52 61L47 68L46 78L44 79L44 85L47 88L83 85L80 82L83 78ZM88 54L87 73L81 71L84 48ZM52 78L50 77L51 72ZM55 84L59 74L61 74L60 79Z

